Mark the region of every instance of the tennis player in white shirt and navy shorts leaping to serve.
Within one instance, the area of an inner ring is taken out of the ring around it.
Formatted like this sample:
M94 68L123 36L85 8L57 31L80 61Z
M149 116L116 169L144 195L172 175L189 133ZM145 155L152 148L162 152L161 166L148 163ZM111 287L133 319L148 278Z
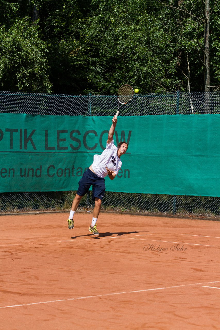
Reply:
M69 229L74 228L74 213L79 206L80 200L88 192L92 185L92 199L95 201L95 207L93 210L92 223L89 227L89 231L93 233L93 235L99 235L96 228L96 221L98 219L102 199L105 194L105 177L108 176L111 180L114 180L122 165L120 157L128 149L127 142L120 142L118 147L114 145L113 135L116 124L117 118L114 116L112 118L112 124L109 130L106 149L101 155L94 155L92 165L89 166L89 168L84 172L82 178L79 180L79 188L73 200L69 219L67 220Z

